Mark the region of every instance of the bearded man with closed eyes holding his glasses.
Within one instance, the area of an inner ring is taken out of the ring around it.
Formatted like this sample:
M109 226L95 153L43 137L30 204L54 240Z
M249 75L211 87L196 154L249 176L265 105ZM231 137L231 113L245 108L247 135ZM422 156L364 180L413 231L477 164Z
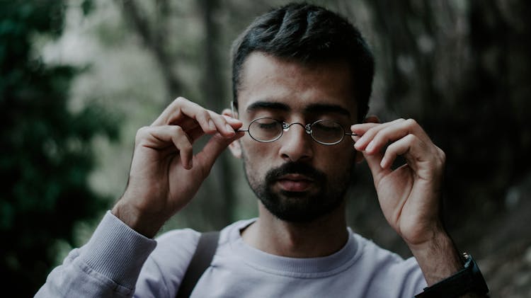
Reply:
M256 19L233 55L234 109L219 115L178 98L140 129L125 193L38 297L175 297L200 234L152 237L227 147L244 161L259 217L221 231L192 297L412 297L438 282L426 297L486 294L442 227L445 154L414 120L365 118L374 67L358 30L290 4ZM392 169L397 156L407 163ZM414 258L346 227L345 193L362 159Z

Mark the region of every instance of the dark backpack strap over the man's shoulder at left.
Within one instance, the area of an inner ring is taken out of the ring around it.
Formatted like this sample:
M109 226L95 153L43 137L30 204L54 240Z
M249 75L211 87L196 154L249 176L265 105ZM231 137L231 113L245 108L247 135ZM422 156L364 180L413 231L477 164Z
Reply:
M207 270L214 258L219 240L219 231L202 233L199 237L198 247L195 248L190 265L184 273L181 286L177 290L176 298L188 298L198 283L201 275Z

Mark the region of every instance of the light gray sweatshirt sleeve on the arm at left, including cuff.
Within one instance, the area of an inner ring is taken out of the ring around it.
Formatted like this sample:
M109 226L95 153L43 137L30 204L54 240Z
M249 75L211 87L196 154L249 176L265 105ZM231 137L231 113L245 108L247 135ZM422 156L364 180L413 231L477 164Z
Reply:
M154 239L107 212L89 242L52 270L35 297L132 297L155 247Z

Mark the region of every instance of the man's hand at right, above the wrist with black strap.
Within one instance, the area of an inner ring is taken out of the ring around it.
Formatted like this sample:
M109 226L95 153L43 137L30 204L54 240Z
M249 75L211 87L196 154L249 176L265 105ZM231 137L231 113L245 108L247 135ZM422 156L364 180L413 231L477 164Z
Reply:
M353 125L351 130L358 134L354 147L367 160L384 217L402 239L411 247L445 233L440 219L445 154L418 123L399 119ZM406 164L392 169L399 155Z

